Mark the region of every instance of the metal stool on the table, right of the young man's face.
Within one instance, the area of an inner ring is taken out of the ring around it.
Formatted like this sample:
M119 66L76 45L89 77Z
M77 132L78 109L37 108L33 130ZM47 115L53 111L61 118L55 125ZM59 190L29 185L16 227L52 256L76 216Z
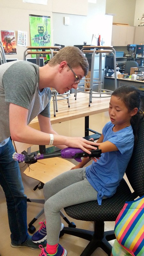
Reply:
M93 50L85 50L86 48L94 48ZM111 53L114 56L114 73L115 73L115 89L117 88L117 81L116 81L116 52L113 46L83 46L82 52L84 53L92 53L92 64L91 64L91 78L89 78L89 82L87 82L87 78L84 78L84 84L90 83L90 87L86 88L81 87L80 84L78 85L76 92L75 92L75 100L78 92L84 92L89 93L89 107L90 103L92 103L92 98L106 98L111 97L111 94L113 91L102 89L102 53ZM93 72L94 72L94 57L95 54L99 54L99 78L93 78ZM104 82L104 81L103 81ZM93 92L92 87L93 83L98 84L98 92ZM82 83L81 83L82 84ZM97 94L97 96L94 96L93 94Z

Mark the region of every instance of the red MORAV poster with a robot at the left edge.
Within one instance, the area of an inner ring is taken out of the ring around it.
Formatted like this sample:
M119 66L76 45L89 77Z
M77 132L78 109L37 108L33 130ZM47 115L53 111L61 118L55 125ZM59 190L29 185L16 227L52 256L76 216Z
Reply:
M1 30L2 44L5 54L17 54L15 32L12 30Z

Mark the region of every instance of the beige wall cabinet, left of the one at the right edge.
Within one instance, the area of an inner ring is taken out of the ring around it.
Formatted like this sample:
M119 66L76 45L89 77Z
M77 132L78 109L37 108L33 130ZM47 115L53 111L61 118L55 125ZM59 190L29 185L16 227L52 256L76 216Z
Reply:
M135 27L113 25L112 42L113 46L127 46L134 44Z

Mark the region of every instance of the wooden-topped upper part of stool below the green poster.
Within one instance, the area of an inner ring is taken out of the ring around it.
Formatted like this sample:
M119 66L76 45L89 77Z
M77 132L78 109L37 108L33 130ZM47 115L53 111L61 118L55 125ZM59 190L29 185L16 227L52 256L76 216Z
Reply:
M38 65L38 55L39 54L51 54L51 57L53 57L54 53L57 53L57 51L52 51L52 50L60 50L61 46L27 46L27 49L24 51L23 54L23 60L26 60L26 56L28 54L36 54L36 61ZM35 50L35 51L32 51Z

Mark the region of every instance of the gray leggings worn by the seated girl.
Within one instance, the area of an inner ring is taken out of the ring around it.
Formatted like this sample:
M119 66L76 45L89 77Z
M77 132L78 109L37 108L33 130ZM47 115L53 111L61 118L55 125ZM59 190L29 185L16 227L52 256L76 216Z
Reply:
M86 179L85 167L60 174L44 185L47 243L57 244L61 228L60 210L73 204L97 200L97 191Z

